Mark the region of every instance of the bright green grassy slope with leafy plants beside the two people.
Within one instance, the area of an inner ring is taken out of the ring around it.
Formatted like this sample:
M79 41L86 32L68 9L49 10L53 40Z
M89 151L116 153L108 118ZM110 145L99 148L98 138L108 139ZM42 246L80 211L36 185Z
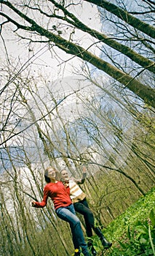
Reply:
M103 230L113 246L101 252L98 238L94 244L98 255L155 256L155 188L134 203Z

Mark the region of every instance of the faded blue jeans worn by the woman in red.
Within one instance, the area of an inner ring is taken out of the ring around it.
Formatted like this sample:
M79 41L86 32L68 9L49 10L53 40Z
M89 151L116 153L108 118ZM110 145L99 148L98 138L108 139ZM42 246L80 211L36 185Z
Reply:
M83 254L89 256L87 244L84 241L82 226L79 221L79 218L76 217L76 212L73 208L73 204L71 203L70 206L57 208L55 212L57 214L57 217L69 223L73 237L74 249L79 249L81 247Z

